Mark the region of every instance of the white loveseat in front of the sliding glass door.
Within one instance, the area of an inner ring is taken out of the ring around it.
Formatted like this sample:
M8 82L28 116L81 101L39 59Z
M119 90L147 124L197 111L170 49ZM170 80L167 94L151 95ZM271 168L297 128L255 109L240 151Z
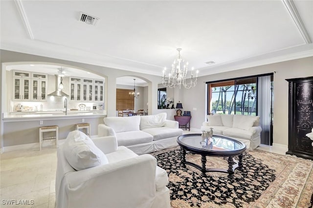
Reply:
M214 114L207 115L207 122L203 122L201 131L213 128L213 134L223 135L246 144L247 149L255 149L261 144L259 116Z

